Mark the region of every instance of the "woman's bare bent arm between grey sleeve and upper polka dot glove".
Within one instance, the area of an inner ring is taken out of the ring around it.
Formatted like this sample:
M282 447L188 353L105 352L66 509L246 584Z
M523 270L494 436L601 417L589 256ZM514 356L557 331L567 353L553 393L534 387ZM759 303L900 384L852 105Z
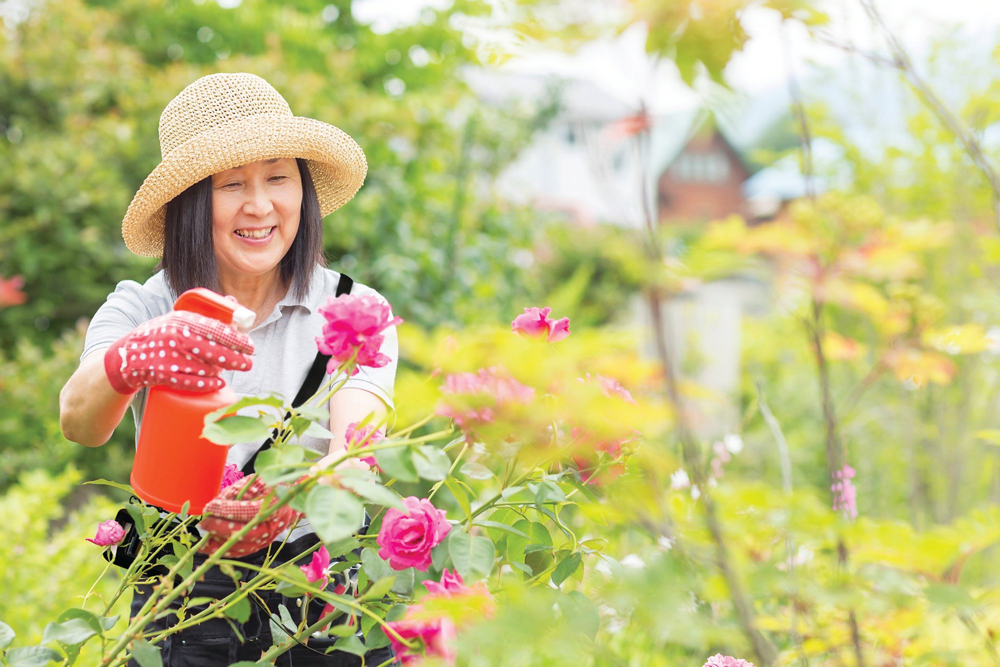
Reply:
M59 392L59 427L67 440L99 447L111 437L135 394L119 394L104 373L104 349L80 362Z

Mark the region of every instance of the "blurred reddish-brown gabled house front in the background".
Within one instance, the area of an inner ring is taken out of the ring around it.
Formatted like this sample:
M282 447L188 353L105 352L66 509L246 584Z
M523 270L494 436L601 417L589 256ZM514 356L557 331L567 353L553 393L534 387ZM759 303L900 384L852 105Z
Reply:
M696 135L657 183L660 222L748 217L742 185L749 176L717 131Z

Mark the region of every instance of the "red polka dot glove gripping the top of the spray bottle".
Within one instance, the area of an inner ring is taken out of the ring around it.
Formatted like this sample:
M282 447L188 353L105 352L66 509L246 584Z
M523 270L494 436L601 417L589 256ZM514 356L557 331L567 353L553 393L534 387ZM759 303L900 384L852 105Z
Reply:
M104 353L104 372L119 394L167 385L215 391L219 372L249 370L250 337L235 327L189 311L171 311L140 324Z

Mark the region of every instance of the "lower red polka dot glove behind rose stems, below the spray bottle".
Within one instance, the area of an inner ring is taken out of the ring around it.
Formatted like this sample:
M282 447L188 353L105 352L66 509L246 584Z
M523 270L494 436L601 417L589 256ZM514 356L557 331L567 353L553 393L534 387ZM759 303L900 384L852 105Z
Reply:
M240 489L250 482L249 488L240 500L236 500ZM240 530L250 519L257 516L264 506L264 496L271 490L267 484L261 481L257 475L244 477L235 484L224 488L218 496L213 498L202 514L201 528L211 534L208 542L201 548L202 553L212 554L218 550L223 543L228 540L233 533ZM271 499L270 505L278 502L276 497ZM285 505L266 521L254 526L250 532L240 538L240 541L229 547L226 555L237 558L246 556L255 551L260 551L269 545L278 533L295 522L302 515L288 505Z

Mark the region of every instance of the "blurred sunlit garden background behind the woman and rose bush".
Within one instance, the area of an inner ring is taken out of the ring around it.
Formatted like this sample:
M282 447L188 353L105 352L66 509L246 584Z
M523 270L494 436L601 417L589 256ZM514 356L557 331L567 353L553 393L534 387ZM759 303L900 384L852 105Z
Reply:
M106 295L152 274L120 224L159 114L246 71L366 153L325 247L407 321L401 422L433 405L446 330L550 306L615 341L659 424L573 515L608 556L568 584L596 635L511 593L463 659L997 664L1000 3L2 0L0 17L0 512L18 538L0 619L19 642L100 572L82 538L120 499L80 482L128 477L129 420L77 446L58 394Z

